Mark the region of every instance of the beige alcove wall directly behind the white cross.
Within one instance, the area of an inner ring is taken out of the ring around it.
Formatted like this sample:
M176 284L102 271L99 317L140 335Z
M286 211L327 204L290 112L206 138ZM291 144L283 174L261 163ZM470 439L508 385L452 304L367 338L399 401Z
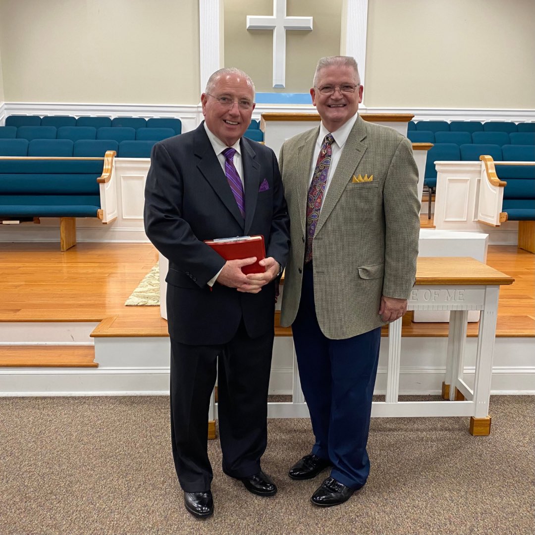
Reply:
M286 87L273 88L273 32L247 30L248 15L272 15L273 0L225 0L225 66L249 74L259 92L308 93L318 59L340 53L342 0L287 0L287 15L312 17L312 32L286 32Z

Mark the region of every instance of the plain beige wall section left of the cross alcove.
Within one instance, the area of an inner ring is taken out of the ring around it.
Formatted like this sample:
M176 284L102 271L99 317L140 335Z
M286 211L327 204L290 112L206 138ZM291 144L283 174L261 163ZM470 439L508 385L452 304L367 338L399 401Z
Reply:
M198 25L197 0L0 0L5 100L196 104Z

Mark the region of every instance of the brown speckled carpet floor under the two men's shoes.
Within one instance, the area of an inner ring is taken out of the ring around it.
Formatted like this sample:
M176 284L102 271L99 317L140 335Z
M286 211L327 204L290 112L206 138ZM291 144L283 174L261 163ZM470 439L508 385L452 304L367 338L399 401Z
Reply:
M372 419L368 484L328 509L309 502L322 476L286 476L309 452L310 422L271 419L263 468L278 494L223 475L209 441L216 512L198 521L182 505L167 398L0 398L0 533L531 535L534 409L493 396L491 436L477 438L468 418Z

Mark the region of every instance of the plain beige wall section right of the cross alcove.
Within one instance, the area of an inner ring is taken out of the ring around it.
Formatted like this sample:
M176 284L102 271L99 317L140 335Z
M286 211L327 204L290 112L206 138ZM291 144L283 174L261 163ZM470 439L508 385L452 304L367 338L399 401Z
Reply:
M533 0L369 0L367 106L535 108Z

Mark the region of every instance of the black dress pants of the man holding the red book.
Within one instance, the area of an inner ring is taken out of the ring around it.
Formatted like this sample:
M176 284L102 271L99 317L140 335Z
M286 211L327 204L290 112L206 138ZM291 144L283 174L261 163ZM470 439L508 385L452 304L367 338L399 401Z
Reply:
M251 339L243 322L220 346L189 346L171 337L171 443L185 492L210 489L208 410L216 375L223 471L247 477L261 470L272 351L273 331Z

